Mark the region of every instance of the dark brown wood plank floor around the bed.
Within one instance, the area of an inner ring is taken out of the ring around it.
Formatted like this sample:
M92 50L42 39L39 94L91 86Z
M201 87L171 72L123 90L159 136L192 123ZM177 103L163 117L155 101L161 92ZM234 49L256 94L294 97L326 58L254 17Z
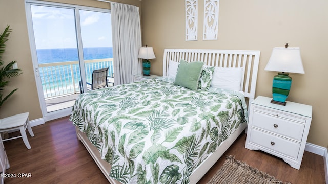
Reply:
M68 117L32 129L35 136L28 134L32 149L28 150L22 139L4 143L11 165L6 172L16 174L16 178L6 178L5 183L108 183L83 144L76 139L75 128ZM279 158L245 149L245 139L242 133L224 155L235 155L236 159L282 181L325 183L322 156L305 151L301 168L296 170ZM206 183L225 160L224 156L220 158L199 183ZM31 177L18 178L18 173L31 173Z

